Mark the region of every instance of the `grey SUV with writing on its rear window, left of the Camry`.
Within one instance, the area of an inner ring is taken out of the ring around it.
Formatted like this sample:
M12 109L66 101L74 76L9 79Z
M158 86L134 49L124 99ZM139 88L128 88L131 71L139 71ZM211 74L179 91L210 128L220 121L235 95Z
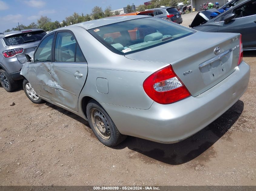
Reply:
M25 54L34 51L45 35L42 29L0 33L0 83L6 91L18 88L17 80L22 79L20 70L27 62Z

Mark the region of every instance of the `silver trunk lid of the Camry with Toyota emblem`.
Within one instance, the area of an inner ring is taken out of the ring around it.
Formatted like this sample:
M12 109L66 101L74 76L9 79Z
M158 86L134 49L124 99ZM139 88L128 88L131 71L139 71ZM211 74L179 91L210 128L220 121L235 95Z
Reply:
M235 71L239 59L239 38L240 34L237 33L198 31L125 57L171 64L176 75L195 97ZM214 53L216 47L220 48L218 54Z

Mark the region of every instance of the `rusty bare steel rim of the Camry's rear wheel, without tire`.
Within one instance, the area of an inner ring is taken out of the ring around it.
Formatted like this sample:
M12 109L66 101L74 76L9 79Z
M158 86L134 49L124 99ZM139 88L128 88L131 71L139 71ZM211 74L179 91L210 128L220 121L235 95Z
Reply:
M91 122L93 128L101 138L108 140L110 138L110 127L108 120L105 118L103 113L96 108L91 109Z

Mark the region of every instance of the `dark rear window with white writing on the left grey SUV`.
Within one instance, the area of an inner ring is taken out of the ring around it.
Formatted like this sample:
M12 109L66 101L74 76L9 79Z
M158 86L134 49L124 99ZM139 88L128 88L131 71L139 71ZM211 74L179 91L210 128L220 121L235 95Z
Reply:
M15 34L12 36L5 37L5 43L7 46L15 46L25 43L32 43L40 41L46 35L45 31L30 31L26 33Z

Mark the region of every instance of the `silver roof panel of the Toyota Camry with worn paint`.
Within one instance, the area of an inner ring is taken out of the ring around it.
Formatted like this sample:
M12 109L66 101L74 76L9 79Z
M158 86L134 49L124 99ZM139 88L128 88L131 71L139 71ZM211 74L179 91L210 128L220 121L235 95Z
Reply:
M114 24L114 23L119 23L119 22L123 22L123 21L129 21L129 20L133 20L133 19L146 18L146 17L152 17L152 16L127 15L127 16L120 16L120 17L106 17L106 18L102 18L102 19L96 19L96 20L86 21L86 22L82 22L82 23L78 23L78 24L73 24L73 25L70 25L67 27L62 27L62 28L56 29L56 30L65 30L72 26L78 26L78 27L84 28L85 30L89 30L92 28L101 27L101 26L105 26L108 24Z

